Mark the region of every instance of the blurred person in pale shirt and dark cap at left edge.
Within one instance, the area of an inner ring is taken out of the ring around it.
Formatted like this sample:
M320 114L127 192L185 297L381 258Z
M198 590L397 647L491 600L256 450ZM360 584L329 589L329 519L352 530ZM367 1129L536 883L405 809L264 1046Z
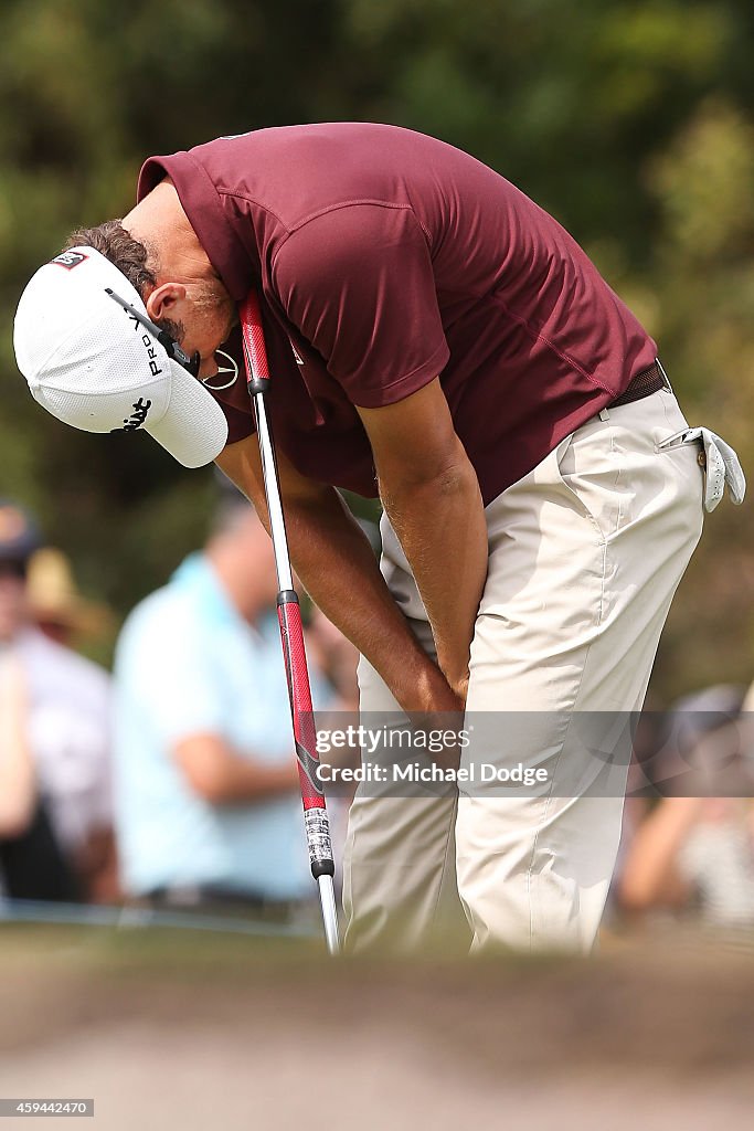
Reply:
M24 701L17 691L16 710L23 711L21 732L41 803L27 830L31 839L14 846L12 869L25 877L28 898L107 899L115 895L110 680L96 664L50 640L34 624L27 573L40 541L29 516L0 501L0 647L12 653L23 672ZM46 846L42 856L61 857L54 869L41 863L40 844ZM27 861L40 863L27 870ZM61 875L58 884L45 880L53 871Z

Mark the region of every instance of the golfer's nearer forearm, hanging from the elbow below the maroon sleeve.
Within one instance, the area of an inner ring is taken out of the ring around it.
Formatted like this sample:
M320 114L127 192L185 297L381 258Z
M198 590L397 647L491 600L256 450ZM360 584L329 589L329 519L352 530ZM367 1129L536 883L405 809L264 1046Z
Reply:
M382 501L424 602L437 662L462 697L487 575L487 527L468 461L426 483L381 484Z

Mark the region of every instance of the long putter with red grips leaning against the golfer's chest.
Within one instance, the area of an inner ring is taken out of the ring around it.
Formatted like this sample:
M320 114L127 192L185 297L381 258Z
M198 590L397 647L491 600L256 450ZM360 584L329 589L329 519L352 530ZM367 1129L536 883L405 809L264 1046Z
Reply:
M306 667L301 608L298 606L298 595L293 587L293 575L291 572L288 539L285 533L275 448L265 407L265 395L270 386L270 374L267 364L267 349L265 348L265 331L259 300L254 291L241 304L240 313L246 380L257 420L257 437L262 457L267 511L270 519L272 550L275 552L275 569L277 571L279 590L277 596L278 622L280 625L283 657L285 659L285 674L288 681L293 736L296 758L298 760L298 780L301 783L301 798L304 805L306 846L309 848L312 875L319 886L328 950L331 955L337 955L339 950L338 915L332 886L335 863L332 860L332 841L330 839L330 820L324 803L324 791L317 776L319 766L317 728L312 713L312 693L309 683L309 670Z

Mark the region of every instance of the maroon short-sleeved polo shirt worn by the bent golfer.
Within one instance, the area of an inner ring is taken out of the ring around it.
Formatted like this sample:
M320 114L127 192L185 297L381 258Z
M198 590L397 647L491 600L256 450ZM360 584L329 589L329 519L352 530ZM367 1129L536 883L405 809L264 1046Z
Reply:
M440 375L488 503L655 360L560 224L434 138L257 130L151 157L139 199L166 174L232 297L260 292L276 442L311 478L375 495L355 406ZM249 435L245 382L217 398L228 442Z

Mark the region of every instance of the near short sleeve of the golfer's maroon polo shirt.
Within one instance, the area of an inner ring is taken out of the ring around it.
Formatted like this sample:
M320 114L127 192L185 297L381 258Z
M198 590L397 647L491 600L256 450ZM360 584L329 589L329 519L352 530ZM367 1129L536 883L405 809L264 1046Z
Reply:
M354 405L402 400L448 363L430 247L410 208L349 204L310 219L281 245L272 277Z

